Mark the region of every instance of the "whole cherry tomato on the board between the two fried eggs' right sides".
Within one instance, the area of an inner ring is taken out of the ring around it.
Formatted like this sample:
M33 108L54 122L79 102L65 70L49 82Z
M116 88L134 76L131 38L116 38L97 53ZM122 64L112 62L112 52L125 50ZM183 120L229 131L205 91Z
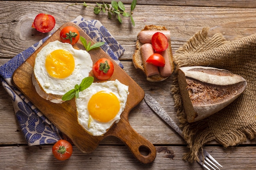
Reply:
M114 65L109 59L101 58L92 66L92 72L97 79L107 80L113 75Z

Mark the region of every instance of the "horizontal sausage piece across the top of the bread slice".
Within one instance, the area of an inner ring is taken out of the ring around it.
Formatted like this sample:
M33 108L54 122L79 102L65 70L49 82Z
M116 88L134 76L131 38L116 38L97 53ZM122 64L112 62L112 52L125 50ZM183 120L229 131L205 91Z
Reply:
M163 33L167 40L169 41L171 38L171 32L168 30L155 30L155 31L151 31L151 30L145 30L145 31L140 31L139 35L138 35L138 39L141 43L146 44L146 43L151 43L151 38L154 35L154 33Z

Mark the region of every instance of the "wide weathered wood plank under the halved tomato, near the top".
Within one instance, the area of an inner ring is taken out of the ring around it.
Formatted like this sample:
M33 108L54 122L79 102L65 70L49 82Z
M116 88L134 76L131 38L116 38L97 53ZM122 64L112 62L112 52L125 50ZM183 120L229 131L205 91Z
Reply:
M119 24L116 18L108 20L105 13L95 15L91 8L72 6L65 9L68 4L57 2L30 3L28 1L0 2L2 11L0 18L3 18L0 22L0 56L11 58L48 34L31 29L34 17L40 12L54 15L56 26L53 31L78 15L82 15L88 20L100 20L126 49L120 60L131 60L135 51L137 34L144 28L145 24L164 25L171 31L173 53L194 33L205 26L211 28L210 36L214 33L223 33L228 40L256 33L254 26L256 9L254 8L239 8L238 10L237 8L137 5L133 13L136 25L132 26L129 18L123 18L123 24ZM16 10L13 11L13 9ZM27 12L30 9L34 10ZM154 16L150 17L152 13Z

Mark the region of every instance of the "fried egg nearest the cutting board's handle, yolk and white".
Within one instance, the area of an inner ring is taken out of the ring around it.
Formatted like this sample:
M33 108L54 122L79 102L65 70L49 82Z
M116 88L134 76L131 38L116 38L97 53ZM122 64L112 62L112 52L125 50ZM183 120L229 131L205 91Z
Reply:
M128 86L117 79L92 83L76 98L79 124L93 136L104 135L119 122L128 97Z

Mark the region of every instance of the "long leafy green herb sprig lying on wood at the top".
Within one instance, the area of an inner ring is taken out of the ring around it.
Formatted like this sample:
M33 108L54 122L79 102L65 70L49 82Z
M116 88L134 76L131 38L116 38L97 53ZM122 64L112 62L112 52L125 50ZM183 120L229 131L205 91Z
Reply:
M83 5L84 7L94 7L93 11L94 11L95 14L99 14L101 11L103 13L107 12L109 19L112 18L112 15L117 15L117 19L120 23L123 23L123 21L121 19L121 15L123 15L124 17L130 17L132 25L135 26L135 22L132 18L132 14L133 14L132 11L135 9L136 4L137 4L137 0L132 0L132 4L131 4L131 7L130 7L130 12L126 11L126 8L125 8L123 2L121 2L121 1L117 2L115 0L111 1L111 7L110 7L109 4L107 4L105 2L103 2L103 4L99 4L99 3L96 2L96 5L89 5L85 2L83 2L83 4L75 3L75 4L70 4L67 7L73 6L73 5Z

